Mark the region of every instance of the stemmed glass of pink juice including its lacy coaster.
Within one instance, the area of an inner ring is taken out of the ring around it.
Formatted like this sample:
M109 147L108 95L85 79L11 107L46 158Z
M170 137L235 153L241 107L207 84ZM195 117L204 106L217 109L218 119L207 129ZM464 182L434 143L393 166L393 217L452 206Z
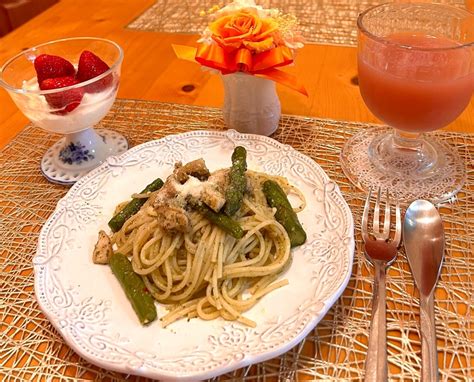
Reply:
M363 130L344 145L341 165L359 188L442 202L466 171L454 148L425 134L447 126L474 90L474 17L441 4L389 3L363 12L358 75L369 110L390 127Z

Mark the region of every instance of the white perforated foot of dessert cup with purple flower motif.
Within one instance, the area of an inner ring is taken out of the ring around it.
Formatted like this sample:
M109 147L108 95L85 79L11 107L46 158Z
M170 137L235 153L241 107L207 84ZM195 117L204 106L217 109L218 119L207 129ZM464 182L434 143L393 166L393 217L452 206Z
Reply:
M53 183L71 185L109 156L128 150L127 139L112 130L83 130L57 141L41 160L41 172Z

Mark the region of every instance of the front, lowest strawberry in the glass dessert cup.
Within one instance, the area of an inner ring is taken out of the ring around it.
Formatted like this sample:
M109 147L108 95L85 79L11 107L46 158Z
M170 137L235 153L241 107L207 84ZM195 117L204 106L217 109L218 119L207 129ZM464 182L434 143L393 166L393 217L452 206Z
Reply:
M60 89L66 86L72 86L78 84L74 77L58 77L48 78L40 83L41 90ZM46 94L46 101L48 104L55 108L60 109L57 114L65 114L73 111L81 103L82 97L84 96L84 89L77 88L66 91L61 91L52 94Z

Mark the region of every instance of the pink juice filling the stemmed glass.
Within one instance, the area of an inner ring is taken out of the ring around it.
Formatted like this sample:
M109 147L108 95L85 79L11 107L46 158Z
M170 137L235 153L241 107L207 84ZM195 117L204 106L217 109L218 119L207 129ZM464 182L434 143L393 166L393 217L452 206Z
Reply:
M474 48L453 49L459 43L425 34L397 33L385 40L389 43L368 40L359 48L360 92L370 111L409 132L454 121L474 91Z

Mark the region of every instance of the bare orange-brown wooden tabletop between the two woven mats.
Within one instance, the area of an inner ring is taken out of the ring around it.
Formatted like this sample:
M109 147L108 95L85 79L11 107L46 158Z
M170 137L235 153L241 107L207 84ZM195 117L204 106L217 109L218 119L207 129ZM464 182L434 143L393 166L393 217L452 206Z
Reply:
M126 25L154 3L153 0L62 0L38 17L0 39L0 63L20 50L57 38L109 38L125 51L118 97L220 106L223 87L217 76L198 65L178 60L171 44L194 44L196 35L141 32ZM357 75L354 47L307 45L297 64L286 69L305 83L308 98L279 86L282 112L337 120L376 122L354 83ZM186 86L186 85L192 85ZM193 88L191 91L189 88ZM0 147L28 123L26 117L0 92ZM474 100L446 129L474 132Z

